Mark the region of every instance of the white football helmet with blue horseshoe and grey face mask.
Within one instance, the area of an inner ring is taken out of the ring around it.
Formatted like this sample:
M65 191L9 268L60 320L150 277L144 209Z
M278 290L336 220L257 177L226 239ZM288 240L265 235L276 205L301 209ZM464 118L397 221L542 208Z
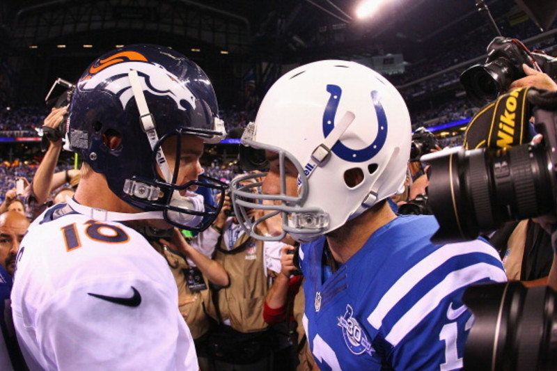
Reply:
M302 65L275 82L242 136L243 145L278 153L281 193L251 192L262 182L246 180L262 174L236 179L230 184L236 215L253 237L278 240L288 232L309 242L402 192L410 143L407 106L380 74L348 61ZM285 159L298 169L296 196L285 191ZM363 181L350 187L345 173L352 169ZM252 208L265 216L250 221L244 216ZM281 235L256 232L279 213Z

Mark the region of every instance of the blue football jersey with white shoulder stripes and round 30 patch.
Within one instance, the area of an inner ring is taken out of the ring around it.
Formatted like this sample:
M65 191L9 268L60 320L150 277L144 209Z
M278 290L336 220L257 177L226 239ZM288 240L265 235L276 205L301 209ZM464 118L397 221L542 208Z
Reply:
M506 281L480 239L436 246L433 216L399 216L324 279L325 237L301 246L304 328L322 370L458 370L472 316L468 285Z

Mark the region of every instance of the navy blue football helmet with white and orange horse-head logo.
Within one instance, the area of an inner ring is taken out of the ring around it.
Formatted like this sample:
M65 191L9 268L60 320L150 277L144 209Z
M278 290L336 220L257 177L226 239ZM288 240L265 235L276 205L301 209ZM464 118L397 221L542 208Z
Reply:
M217 112L212 84L196 63L166 47L130 45L100 56L81 75L67 142L125 202L179 228L201 231L222 203L213 206L198 194L179 192L198 186L223 194L226 184L205 175L175 184L180 161L170 169L162 144L176 137L178 158L183 135L217 143L226 135ZM115 135L120 144L109 148L103 137Z

